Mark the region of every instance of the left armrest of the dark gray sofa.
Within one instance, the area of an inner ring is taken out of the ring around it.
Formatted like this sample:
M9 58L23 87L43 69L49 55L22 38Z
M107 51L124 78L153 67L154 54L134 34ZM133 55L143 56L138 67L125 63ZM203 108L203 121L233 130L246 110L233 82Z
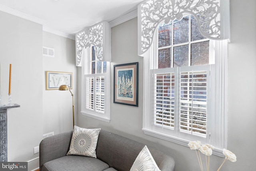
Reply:
M68 153L73 131L60 133L47 137L40 142L39 146L39 166L42 170L44 163L58 159Z

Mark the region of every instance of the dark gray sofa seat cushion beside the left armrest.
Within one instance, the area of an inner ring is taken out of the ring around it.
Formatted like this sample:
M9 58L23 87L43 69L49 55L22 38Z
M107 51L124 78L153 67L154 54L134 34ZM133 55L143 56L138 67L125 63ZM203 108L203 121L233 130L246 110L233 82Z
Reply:
M66 155L44 163L42 171L103 171L108 164L93 157Z

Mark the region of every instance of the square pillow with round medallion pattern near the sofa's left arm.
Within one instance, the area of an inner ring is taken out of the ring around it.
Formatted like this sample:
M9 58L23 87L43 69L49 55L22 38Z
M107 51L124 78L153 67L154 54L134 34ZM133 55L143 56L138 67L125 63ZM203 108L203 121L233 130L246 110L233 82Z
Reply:
M74 126L70 149L67 155L84 155L96 158L96 146L100 128L86 129Z

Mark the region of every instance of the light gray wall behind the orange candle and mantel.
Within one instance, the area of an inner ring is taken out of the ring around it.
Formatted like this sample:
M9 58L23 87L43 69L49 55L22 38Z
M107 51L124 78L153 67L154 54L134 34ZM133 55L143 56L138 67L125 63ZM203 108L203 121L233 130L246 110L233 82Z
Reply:
M4 12L0 21L2 104L7 103L12 64L12 102L20 105L8 109L8 161L29 161L38 157L33 148L43 133L42 25Z

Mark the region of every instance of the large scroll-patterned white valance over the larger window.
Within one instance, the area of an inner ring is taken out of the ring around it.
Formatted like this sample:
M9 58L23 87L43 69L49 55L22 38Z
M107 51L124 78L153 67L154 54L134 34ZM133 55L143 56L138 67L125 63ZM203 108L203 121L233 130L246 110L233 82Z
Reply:
M199 30L214 40L230 37L229 0L146 0L138 5L138 55L151 46L158 24L192 14Z

